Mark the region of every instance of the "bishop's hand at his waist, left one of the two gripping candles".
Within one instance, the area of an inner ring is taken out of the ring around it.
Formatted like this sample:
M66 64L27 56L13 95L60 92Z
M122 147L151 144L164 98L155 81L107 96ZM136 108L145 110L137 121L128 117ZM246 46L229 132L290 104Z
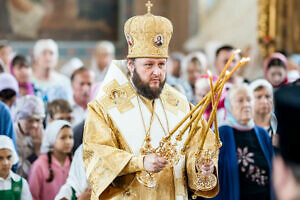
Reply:
M144 157L144 169L148 172L158 173L168 164L168 161L152 153Z

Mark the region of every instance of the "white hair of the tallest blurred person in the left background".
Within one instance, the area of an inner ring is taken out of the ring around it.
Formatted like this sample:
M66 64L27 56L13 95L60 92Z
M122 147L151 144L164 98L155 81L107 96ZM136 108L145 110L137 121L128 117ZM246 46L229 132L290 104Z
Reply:
M33 47L33 57L36 59L43 51L50 50L54 57L58 59L58 46L52 39L38 40Z

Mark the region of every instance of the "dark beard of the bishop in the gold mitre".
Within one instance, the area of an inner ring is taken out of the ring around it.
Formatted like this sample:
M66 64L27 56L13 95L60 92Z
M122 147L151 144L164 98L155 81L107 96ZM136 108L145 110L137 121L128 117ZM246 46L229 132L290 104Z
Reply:
M137 89L138 94L146 97L147 99L153 100L159 97L161 91L164 88L164 85L166 83L166 79L159 84L159 87L157 89L151 89L148 84L145 84L136 70L133 70L133 76L132 76L132 82L134 86Z

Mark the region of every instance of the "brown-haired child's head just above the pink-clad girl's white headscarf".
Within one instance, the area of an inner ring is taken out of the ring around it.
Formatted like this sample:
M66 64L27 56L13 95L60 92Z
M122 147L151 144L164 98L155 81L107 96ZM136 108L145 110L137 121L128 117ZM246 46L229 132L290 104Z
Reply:
M73 109L70 103L64 99L57 99L48 104L49 122L54 120L66 120L73 122Z

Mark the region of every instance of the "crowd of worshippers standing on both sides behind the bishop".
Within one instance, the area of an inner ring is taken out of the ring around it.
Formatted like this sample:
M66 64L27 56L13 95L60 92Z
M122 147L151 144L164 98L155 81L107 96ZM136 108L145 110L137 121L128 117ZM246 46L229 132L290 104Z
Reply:
M234 50L218 48L214 66L200 51L173 53L166 82L196 105L210 91L207 70L216 81ZM70 64L64 74L54 40L38 40L32 52L22 55L9 43L0 44L0 199L90 199L82 159L84 121L115 47L99 42L91 66ZM236 55L229 70L240 58ZM274 199L272 158L279 141L273 94L295 80L288 65L276 52L261 66L264 77L250 82L236 73L226 84L217 110L223 146L216 199Z

